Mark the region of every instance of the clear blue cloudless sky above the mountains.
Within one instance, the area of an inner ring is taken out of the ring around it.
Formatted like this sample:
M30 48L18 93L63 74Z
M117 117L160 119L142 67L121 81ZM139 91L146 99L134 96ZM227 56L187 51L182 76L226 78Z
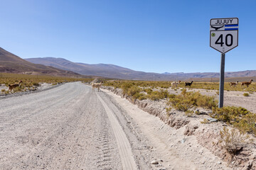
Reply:
M143 72L220 72L211 18L239 18L225 72L256 69L255 0L0 0L0 47Z

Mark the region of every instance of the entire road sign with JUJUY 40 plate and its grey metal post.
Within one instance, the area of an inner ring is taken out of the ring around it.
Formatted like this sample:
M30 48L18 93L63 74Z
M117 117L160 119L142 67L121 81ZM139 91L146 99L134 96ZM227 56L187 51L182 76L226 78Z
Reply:
M238 47L238 18L210 19L210 47L221 52L219 108L223 107L225 52Z

